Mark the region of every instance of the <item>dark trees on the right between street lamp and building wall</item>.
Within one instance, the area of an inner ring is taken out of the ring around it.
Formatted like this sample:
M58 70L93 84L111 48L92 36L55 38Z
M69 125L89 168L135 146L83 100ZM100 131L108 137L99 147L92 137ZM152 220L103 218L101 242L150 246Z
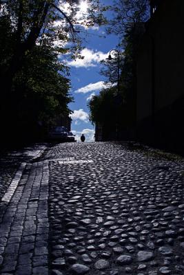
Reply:
M106 118L114 124L118 124L119 137L124 138L123 133L127 128L132 128L136 122L136 51L145 31L144 22L149 18L149 5L147 0L116 0L111 10L114 17L107 28L108 33L119 35L121 43L118 45L120 58L120 91L116 97L116 87L113 87L111 97L104 98L102 93L109 94L109 89L92 98L89 103L90 118L93 122L103 125L103 132L107 132ZM103 61L105 67L101 74L108 78L107 82L116 84L117 80L117 56L114 54L112 61ZM117 101L118 104L117 104ZM104 114L103 104L110 107ZM112 106L113 105L113 106ZM99 110L103 111L99 111ZM110 137L110 133L109 133Z

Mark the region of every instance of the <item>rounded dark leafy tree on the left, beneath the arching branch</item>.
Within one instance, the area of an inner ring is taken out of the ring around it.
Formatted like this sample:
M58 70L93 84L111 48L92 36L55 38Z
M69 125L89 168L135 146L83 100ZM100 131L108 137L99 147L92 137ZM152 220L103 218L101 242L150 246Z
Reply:
M1 129L16 132L19 138L38 133L38 122L47 127L61 115L69 115L70 80L68 68L48 45L37 45L25 58L12 83L12 94L4 103ZM6 119L5 119L6 118ZM10 127L11 125L11 127Z

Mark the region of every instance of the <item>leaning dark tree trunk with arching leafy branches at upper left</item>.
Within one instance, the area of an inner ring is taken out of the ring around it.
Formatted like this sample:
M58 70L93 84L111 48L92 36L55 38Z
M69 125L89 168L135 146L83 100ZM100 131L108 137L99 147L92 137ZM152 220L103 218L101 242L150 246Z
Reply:
M68 25L60 25L59 28L54 26L54 21L61 20L65 17L70 23L72 32L75 32L73 23L77 23L75 14L77 12L77 1L68 0L68 10L70 16L59 8L62 7L65 1L54 0L34 0L34 1L13 1L8 0L6 4L1 5L1 19L9 21L14 38L12 52L8 54L9 58L1 67L1 83L6 87L6 94L10 93L12 87L12 80L15 74L23 66L23 58L32 51L33 47L38 42L38 39L43 39L44 36L52 36L52 40L57 37L62 41L70 41L68 36ZM83 24L92 25L95 21L100 23L101 12L99 5L95 5L96 1L92 0L93 12L90 18L83 21ZM96 12L96 16L94 16Z

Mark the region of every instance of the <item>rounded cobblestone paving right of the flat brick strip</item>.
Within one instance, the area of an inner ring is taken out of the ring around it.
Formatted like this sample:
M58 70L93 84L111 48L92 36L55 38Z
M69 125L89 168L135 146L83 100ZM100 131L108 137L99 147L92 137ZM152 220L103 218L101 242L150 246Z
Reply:
M50 256L62 254L62 274L182 274L183 162L108 142L60 144L48 159Z

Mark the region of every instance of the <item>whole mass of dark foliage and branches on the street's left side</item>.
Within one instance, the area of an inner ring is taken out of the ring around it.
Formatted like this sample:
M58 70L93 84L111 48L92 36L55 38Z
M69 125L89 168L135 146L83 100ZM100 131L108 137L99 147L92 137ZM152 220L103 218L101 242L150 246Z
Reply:
M0 120L6 135L13 130L37 131L38 122L48 125L71 113L69 71L59 56L68 52L74 56L81 48L74 24L105 23L98 0L89 1L84 20L76 16L78 2L0 1ZM68 14L63 11L66 3Z

